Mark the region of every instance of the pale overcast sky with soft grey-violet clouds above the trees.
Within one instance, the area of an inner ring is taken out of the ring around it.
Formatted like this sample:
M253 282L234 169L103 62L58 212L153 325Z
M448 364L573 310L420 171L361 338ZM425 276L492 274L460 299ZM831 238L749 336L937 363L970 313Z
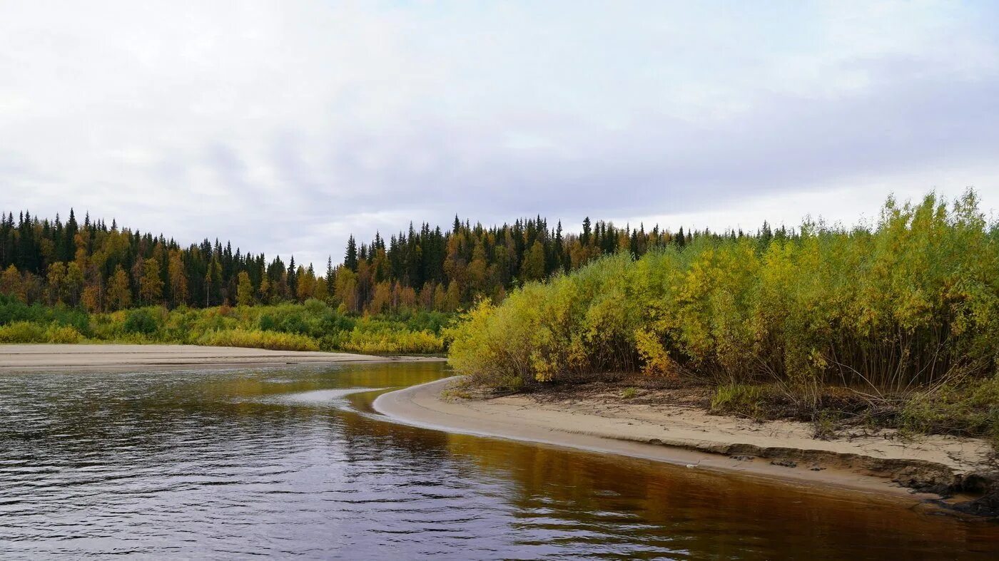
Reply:
M0 0L0 209L317 265L456 213L990 211L996 6Z

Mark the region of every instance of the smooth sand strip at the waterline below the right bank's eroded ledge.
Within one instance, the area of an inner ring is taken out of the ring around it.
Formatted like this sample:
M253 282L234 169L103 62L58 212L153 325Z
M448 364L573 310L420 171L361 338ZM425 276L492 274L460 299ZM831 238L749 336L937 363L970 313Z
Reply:
M738 438L646 438L636 434L640 431L628 434L606 423L594 426L592 418L578 412L530 407L531 402L522 396L446 400L441 392L456 378L382 393L372 407L393 421L422 428L619 454L790 485L875 494L959 512L967 511L962 505L975 498L958 493L953 501L943 499L942 494L951 494L960 487L962 478L979 477L962 473L953 465L786 445L760 446ZM633 419L626 424L640 423Z

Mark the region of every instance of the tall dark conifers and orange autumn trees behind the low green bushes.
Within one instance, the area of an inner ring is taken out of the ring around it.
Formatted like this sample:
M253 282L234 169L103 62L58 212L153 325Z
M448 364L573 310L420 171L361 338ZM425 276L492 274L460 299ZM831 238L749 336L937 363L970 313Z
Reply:
M784 239L785 230L757 233ZM343 265L330 259L325 272L286 264L280 257L233 251L232 244L181 247L112 221L82 224L70 211L65 222L20 213L0 220L0 293L25 302L63 303L91 312L142 305L211 307L317 298L348 313L414 310L455 311L479 295L500 301L507 290L575 270L617 252L641 256L654 248L682 248L697 239L739 239L742 232L675 235L655 227L616 228L589 219L578 234L561 224L549 228L540 217L485 228L462 223L451 230L424 224L419 231L381 235L357 244L351 237Z

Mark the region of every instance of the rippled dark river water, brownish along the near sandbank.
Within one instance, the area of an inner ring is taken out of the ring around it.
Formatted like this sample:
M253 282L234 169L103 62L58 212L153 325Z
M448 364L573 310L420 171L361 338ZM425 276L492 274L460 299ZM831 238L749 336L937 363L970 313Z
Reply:
M0 374L0 554L972 558L999 526L370 413L439 363Z

